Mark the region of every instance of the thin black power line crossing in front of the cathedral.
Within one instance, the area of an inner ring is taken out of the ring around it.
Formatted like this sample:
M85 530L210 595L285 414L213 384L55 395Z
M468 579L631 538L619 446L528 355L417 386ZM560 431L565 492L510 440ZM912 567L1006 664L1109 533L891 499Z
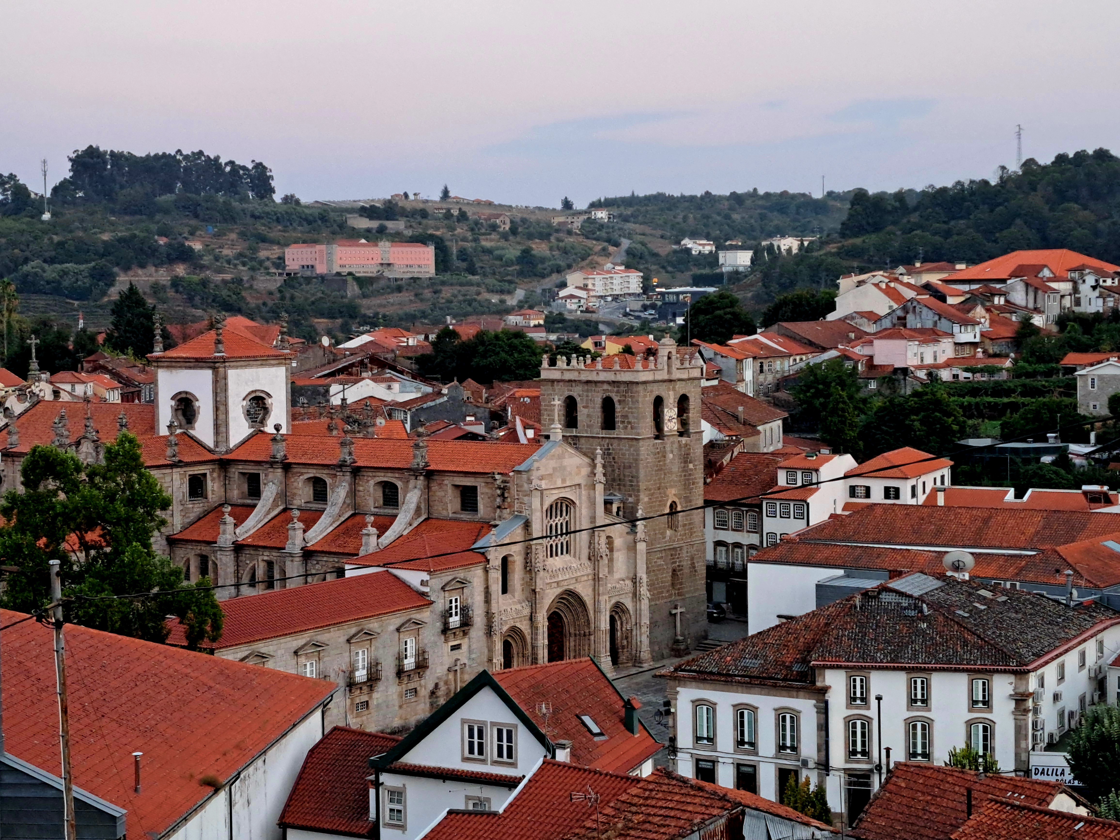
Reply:
M1111 416L1101 417L1101 418L1094 418L1092 420L1082 420L1080 422L1066 423L1065 426L1056 427L1054 431L1061 433L1062 431L1065 431L1067 429L1080 429L1080 428L1083 428L1085 426L1095 426L1096 423L1108 422L1110 420L1113 420L1113 418ZM1032 436L1035 435L1035 433L1036 432L1030 432ZM843 480L847 480L849 478L860 478L862 476L875 477L875 476L877 476L877 475L879 475L881 473L887 472L888 469L898 469L900 467L911 467L911 466L915 466L915 465L918 465L918 464L927 464L930 461L944 460L944 459L948 459L948 458L952 458L952 457L954 457L956 455L973 454L973 452L982 451L984 449L991 449L991 448L997 447L997 446L1002 446L1005 444L1015 444L1015 442L1019 442L1019 441L1026 441L1028 439L1033 440L1033 437L1028 438L1027 435L1021 435L1020 437L1012 438L1010 440L1001 440L1001 441L997 441L995 444L984 444L983 446L974 446L974 447L961 448L961 449L956 449L956 450L951 451L951 452L946 452L945 455L928 455L925 458L916 458L914 460L908 460L908 461L905 461L903 464L892 464L890 466L887 466L887 467L876 467L874 469L867 469L867 470L864 470L864 472L849 472L849 473L846 473L844 475L836 476L834 478L824 478L824 479L819 479L816 482L810 482L808 484L801 484L801 485L797 485L797 488L802 488L802 487L821 487L821 486L823 486L825 484L832 484L834 482L843 482ZM1118 441L1118 445L1120 445L1120 441ZM679 516L682 513L691 513L693 511L704 511L704 510L708 510L709 507L718 507L718 506L721 506L721 505L734 504L736 502L753 502L753 501L756 501L756 500L760 501L760 500L767 498L769 496L776 496L776 495L780 495L782 493L786 493L786 492L788 492L791 489L794 489L794 487L792 487L792 486L790 486L790 487L773 487L772 489L765 491L764 493L755 493L755 494L752 494L749 496L738 496L736 498L721 500L720 502L711 502L711 503L704 502L702 505L696 505L693 507L682 507L682 508L676 510L676 511L666 511L664 513L652 513L652 514L646 515L646 516L634 516L633 519L620 519L618 522L613 522L613 523L609 523L609 524L612 524L612 525L625 525L625 524L636 525L640 522L650 522L652 520L664 519L664 517L668 517L668 516ZM598 531L598 530L600 530L603 528L605 528L605 525L589 525L587 528L577 528L577 529L571 529L570 531L566 531L563 535L579 534L579 533L585 533L585 532L588 532L588 531ZM500 542L500 543L494 544L494 545L487 545L483 550L503 549L503 548L510 548L510 547L513 547L513 545L524 545L526 543L554 540L558 535L559 534L539 534L536 536L526 536L526 538L521 539L521 540L511 540L510 542ZM405 541L404 543L402 543L402 545L407 545L407 544L408 544L408 541ZM382 551L384 551L384 550L388 550L388 549L382 549ZM472 550L473 549L470 549L470 548L466 548L466 549L457 549L457 550L451 550L451 551L440 551L440 552L437 552L435 554L423 554L421 557L403 558L401 560L394 560L392 562L394 562L394 563L413 563L413 562L419 562L419 561L422 561L422 560L438 560L438 559L444 558L444 557L452 557L455 554L463 554L463 553L466 553L466 552L472 551ZM368 556L366 556L366 557L368 557ZM288 577L283 577L283 578L272 578L271 580L273 582L279 582L281 580L297 580L297 579L306 579L306 578L307 578L306 575L290 575ZM233 587L242 587L242 586L244 586L244 587L251 587L251 586L256 586L256 584L241 584L241 582L239 582L239 584L217 584L217 585L213 585L213 586L197 586L197 587L192 587L189 589L186 589L186 588L184 588L184 589L164 589L164 590L155 590L155 591L150 591L150 592L134 592L134 594L131 594L131 595L73 595L73 596L69 596L68 599L93 601L93 600L120 600L120 599L124 599L124 598L152 598L152 597L165 596L165 595L167 595L167 596L169 596L169 595L183 595L185 592L190 592L190 591L211 591L211 590L217 590L217 589L231 589Z

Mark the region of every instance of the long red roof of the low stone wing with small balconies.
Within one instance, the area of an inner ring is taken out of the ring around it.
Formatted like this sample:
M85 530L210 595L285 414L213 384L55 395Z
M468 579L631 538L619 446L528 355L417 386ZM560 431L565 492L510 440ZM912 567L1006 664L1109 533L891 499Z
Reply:
M371 571L321 584L230 598L215 650L293 636L376 616L428 609L431 601L389 571ZM171 644L185 644L183 626L171 625Z

